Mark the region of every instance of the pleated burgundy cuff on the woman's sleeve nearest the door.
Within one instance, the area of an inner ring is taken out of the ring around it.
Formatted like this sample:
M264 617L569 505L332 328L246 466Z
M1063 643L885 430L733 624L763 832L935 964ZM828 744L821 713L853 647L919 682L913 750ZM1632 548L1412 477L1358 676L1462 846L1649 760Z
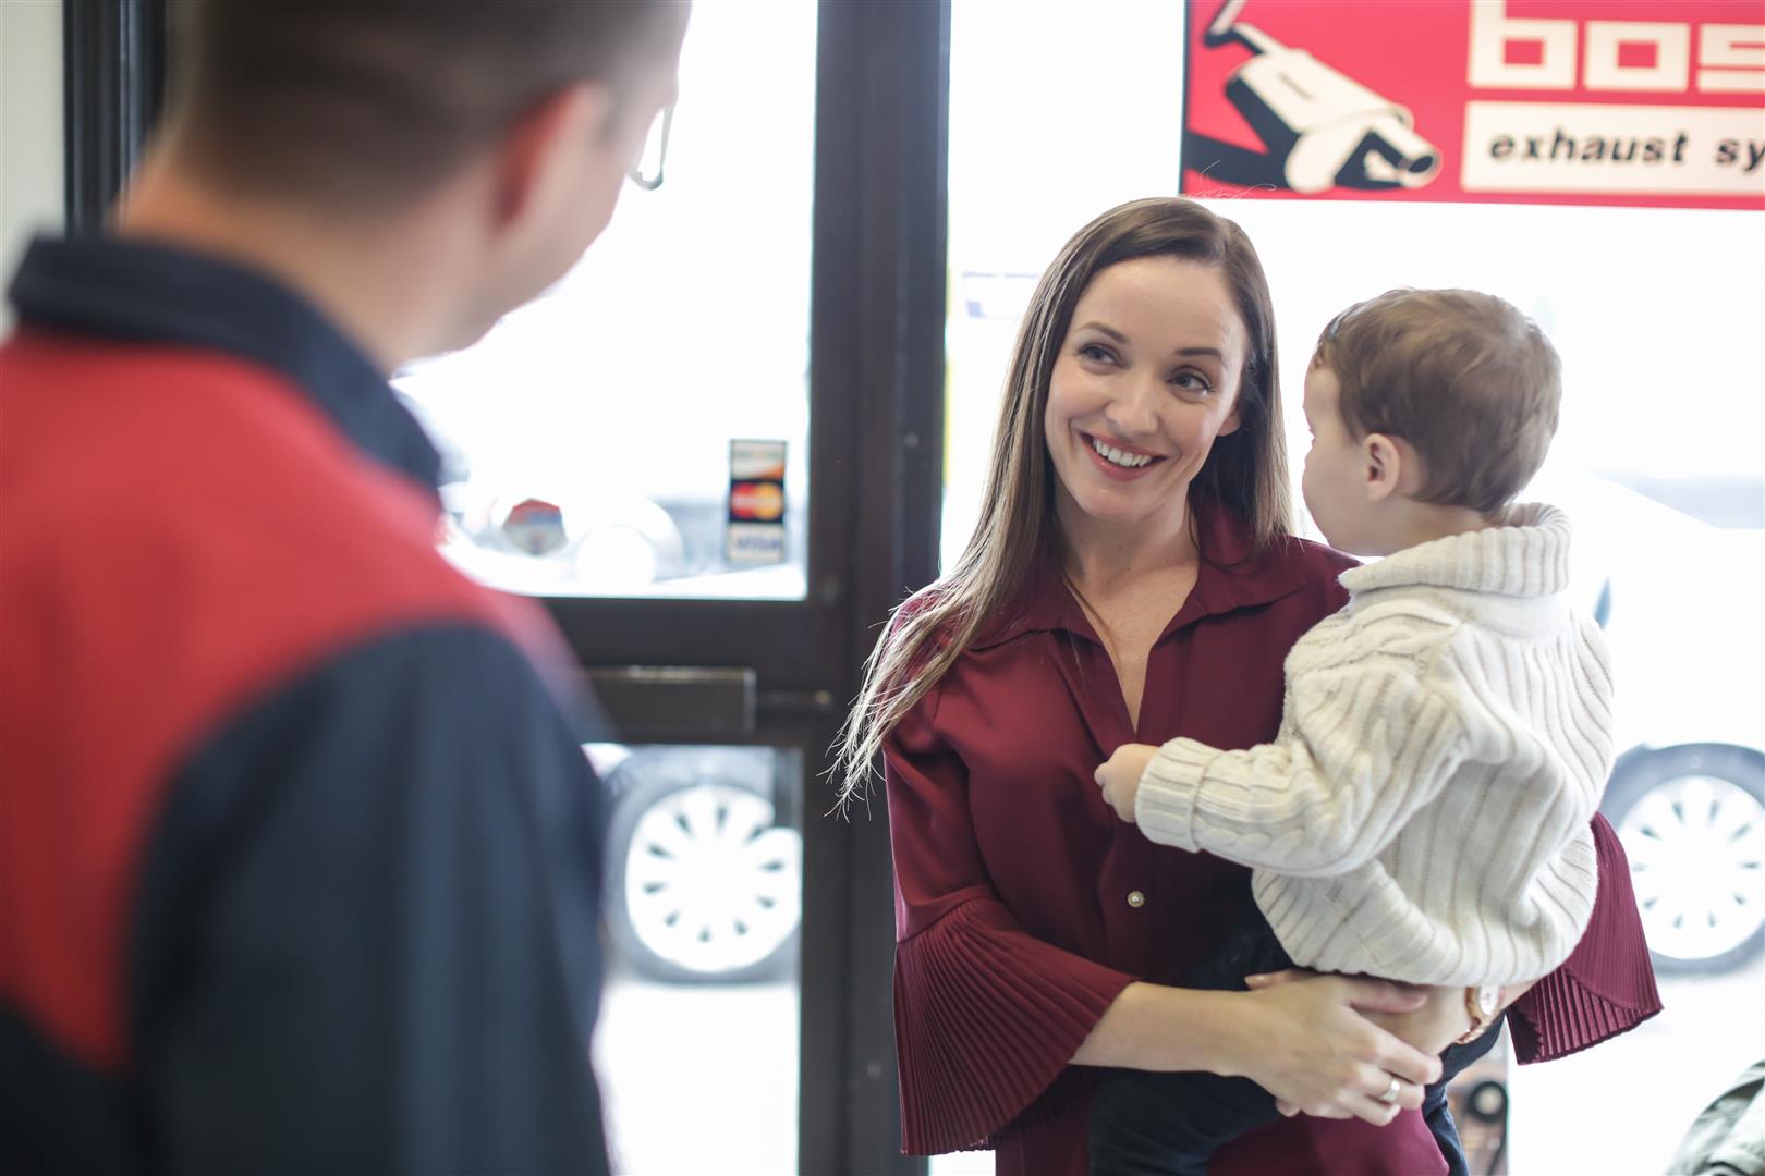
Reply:
M1133 977L976 899L895 949L902 1151L987 1146L1066 1070Z

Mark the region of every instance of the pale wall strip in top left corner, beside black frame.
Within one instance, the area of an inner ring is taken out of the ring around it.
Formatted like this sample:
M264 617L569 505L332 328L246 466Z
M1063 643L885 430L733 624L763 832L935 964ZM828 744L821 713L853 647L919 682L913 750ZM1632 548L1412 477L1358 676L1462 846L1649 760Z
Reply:
M62 0L0 0L0 286L62 210Z

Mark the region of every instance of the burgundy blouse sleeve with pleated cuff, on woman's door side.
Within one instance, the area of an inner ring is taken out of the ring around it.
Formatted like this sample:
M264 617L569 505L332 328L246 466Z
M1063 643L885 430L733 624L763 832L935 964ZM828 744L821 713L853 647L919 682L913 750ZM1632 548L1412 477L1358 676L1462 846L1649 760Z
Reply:
M884 746L902 1150L976 1148L1061 1077L1133 977L1025 933L987 878L935 698Z

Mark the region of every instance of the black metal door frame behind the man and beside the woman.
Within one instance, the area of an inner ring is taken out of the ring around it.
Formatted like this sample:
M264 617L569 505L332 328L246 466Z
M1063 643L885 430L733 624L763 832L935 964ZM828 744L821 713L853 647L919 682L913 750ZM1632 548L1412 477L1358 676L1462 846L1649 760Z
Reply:
M162 106L166 14L65 0L71 233L102 226ZM950 2L821 0L817 53L808 599L549 607L586 668L641 684L621 705L680 716L674 679L630 666L752 670L713 686L748 691L740 721L625 735L803 749L800 1167L921 1172L898 1153L886 811L824 816L822 772L888 610L937 575Z

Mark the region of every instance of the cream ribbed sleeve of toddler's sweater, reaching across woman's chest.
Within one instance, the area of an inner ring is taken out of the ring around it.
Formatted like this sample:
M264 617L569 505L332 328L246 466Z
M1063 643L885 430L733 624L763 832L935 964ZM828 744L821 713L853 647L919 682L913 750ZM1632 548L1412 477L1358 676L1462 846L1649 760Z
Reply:
M1160 748L1135 820L1183 850L1294 876L1340 875L1371 860L1461 755L1458 711L1416 661L1363 647L1290 679L1273 744Z

